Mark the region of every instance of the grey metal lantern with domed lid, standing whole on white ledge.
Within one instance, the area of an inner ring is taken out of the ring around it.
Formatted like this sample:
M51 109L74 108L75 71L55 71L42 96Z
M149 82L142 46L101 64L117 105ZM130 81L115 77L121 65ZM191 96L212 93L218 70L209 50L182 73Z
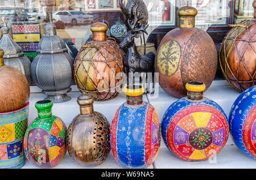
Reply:
M44 27L38 55L31 64L31 77L35 84L47 95L46 99L55 103L71 100L74 59L67 53L65 42L56 36L56 26L52 23Z

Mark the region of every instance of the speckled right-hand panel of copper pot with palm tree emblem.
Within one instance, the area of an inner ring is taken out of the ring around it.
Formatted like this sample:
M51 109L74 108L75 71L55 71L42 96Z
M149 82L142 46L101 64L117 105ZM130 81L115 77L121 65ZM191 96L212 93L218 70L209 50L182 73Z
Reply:
M196 29L187 41L181 61L181 79L183 85L192 80L205 83L208 88L217 68L217 54L214 44L207 33ZM216 61L214 61L216 60Z

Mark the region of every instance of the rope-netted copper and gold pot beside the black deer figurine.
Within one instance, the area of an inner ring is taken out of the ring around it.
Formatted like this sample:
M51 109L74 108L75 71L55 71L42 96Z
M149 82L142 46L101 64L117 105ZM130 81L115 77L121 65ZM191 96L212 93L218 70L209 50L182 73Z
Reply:
M97 101L110 100L118 95L125 79L120 74L125 53L106 39L106 24L94 23L90 30L93 41L86 42L75 59L75 81L80 92L90 93Z

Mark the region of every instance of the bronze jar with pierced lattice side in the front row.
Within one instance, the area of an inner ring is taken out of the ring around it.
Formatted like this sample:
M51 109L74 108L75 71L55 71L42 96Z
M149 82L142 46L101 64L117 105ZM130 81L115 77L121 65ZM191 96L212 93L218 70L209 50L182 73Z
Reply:
M68 127L67 148L71 158L84 166L100 165L110 152L110 125L104 115L93 111L93 97L77 98L80 114Z

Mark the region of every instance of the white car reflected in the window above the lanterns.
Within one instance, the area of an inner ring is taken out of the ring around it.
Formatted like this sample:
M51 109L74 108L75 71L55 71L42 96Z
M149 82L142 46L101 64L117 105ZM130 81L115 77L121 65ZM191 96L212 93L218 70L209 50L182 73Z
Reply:
M57 22L58 20L64 22L65 24L84 24L92 23L93 16L85 14L81 11L56 11L52 14L52 22Z

